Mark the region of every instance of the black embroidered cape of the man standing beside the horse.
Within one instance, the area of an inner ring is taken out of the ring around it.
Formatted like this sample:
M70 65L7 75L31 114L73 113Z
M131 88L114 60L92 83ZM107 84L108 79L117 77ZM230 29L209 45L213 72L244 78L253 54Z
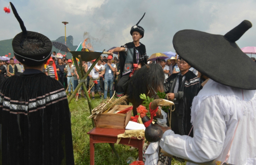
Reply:
M165 80L165 83L164 83L165 93L174 93L174 87L176 85L177 77L178 77L177 75L178 73L174 73ZM179 107L176 107L175 111L178 111L179 115L183 115L182 116L183 117L182 132L183 133L181 135L188 135L192 127L192 124L190 121L191 120L190 107L192 106L192 101L194 97L197 96L201 85L200 85L199 78L193 72L188 71L187 73L184 74L184 76L185 76L184 81L182 81L181 88L178 90L178 92L183 92L183 99L178 100ZM191 131L189 135L193 137L193 131Z

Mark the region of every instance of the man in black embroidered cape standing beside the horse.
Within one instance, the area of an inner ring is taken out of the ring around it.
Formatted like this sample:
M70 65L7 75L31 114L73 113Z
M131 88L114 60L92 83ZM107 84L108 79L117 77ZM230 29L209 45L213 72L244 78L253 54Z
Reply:
M168 100L175 103L175 110L172 113L172 130L180 135L188 135L191 130L191 109L192 101L198 94L200 88L199 78L189 70L188 65L180 59L180 72L170 75L165 80L165 90ZM189 134L193 137L193 131Z

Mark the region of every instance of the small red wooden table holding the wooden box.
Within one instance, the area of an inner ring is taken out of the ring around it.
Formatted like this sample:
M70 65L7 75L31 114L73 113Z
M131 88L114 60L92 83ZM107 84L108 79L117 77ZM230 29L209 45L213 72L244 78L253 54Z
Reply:
M87 134L90 134L90 164L94 164L94 144L95 143L116 143L117 135L124 133L125 129L112 128L93 128ZM119 144L132 146L139 149L139 160L142 161L142 151L144 139L137 139L136 137L122 138ZM130 143L129 143L130 141Z

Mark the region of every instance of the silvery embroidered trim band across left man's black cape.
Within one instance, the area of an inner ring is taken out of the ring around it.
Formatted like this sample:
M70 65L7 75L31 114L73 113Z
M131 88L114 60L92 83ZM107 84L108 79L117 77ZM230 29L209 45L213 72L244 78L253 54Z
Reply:
M11 100L9 97L5 97L2 93L0 97L0 103L3 103L3 111L9 111L11 114L24 114L36 112L38 109L43 109L46 106L56 103L58 101L67 99L64 89L60 89L54 92L50 92L44 96L30 99L29 102ZM4 97L3 97L4 96Z

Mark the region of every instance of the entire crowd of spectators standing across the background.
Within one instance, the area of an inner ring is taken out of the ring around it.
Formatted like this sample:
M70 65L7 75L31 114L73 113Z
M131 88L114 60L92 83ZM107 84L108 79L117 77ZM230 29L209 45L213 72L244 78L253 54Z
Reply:
M53 52L56 54L56 52ZM255 58L251 58L255 61ZM82 67L84 74L87 73L88 69L92 66L93 61L85 62L82 61ZM77 61L79 63L79 61ZM256 62L256 61L255 61ZM56 66L56 70L54 70L53 63ZM165 81L166 79L174 74L180 72L180 58L172 57L168 60L163 59L156 59L156 61L148 61L147 64L157 63L159 64L164 72ZM196 76L200 77L198 71L193 68L189 67L189 70L193 72ZM13 76L23 73L24 67L22 63L14 64L14 59L10 59L7 61L0 62L0 84L2 82ZM78 86L80 79L77 73L76 67L73 65L73 61L71 59L66 59L63 57L62 59L52 58L49 60L49 64L42 70L46 75L56 78L55 73L57 74L59 82L68 90L69 96L71 95L72 91L76 89ZM100 98L106 99L108 96L113 96L113 91L116 89L116 85L118 82L118 75L120 74L120 65L119 60L117 57L112 56L101 56L101 59L98 63L94 66L94 68L89 73L87 80L86 80L86 87L87 90L92 95L92 99L95 99L95 93L99 94ZM97 81L97 82L96 82ZM81 96L86 98L82 88L77 92L78 98Z

